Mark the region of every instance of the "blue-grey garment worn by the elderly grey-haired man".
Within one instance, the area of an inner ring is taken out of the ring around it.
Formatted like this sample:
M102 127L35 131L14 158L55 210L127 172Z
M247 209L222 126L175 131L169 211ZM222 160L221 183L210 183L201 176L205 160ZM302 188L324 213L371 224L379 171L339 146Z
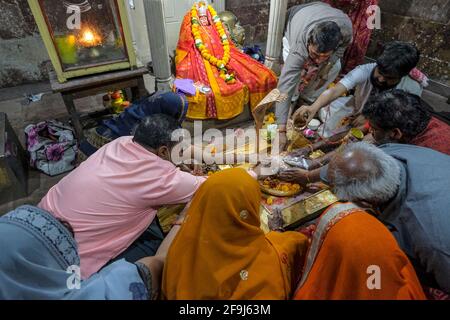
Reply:
M400 162L401 184L379 219L419 264L418 273L450 292L450 156L407 144L380 148Z

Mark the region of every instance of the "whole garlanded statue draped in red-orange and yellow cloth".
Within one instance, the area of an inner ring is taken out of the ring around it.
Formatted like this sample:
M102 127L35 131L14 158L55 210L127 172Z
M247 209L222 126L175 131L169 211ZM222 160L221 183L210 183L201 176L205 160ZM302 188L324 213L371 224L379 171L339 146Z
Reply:
M242 53L226 34L219 16L200 1L186 14L176 50L177 78L211 89L188 97L191 119L230 119L251 110L277 85L275 74Z

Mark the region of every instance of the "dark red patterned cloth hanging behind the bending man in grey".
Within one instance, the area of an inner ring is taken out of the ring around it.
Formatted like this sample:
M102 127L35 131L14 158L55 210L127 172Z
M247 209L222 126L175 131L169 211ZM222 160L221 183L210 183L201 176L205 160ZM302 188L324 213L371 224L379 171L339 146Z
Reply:
M341 73L346 74L364 61L369 46L372 30L367 28L366 13L371 5L377 5L378 0L323 0L336 9L344 11L352 21L353 40L344 54Z

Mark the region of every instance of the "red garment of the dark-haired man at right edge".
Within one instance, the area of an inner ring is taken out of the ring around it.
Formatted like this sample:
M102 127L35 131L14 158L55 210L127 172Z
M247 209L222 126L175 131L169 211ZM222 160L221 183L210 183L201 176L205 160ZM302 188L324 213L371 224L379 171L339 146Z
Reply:
M450 126L438 118L431 117L427 128L410 143L450 155Z

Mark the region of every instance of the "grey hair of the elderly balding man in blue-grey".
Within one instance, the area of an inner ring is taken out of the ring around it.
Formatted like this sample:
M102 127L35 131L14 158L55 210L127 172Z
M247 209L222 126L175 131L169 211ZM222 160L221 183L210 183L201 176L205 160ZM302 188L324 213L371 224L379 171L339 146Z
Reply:
M397 193L400 185L400 164L396 159L374 145L358 142L348 145L344 159L362 156L364 162L356 169L358 174L345 174L339 165L334 169L334 191L340 199L386 203Z

